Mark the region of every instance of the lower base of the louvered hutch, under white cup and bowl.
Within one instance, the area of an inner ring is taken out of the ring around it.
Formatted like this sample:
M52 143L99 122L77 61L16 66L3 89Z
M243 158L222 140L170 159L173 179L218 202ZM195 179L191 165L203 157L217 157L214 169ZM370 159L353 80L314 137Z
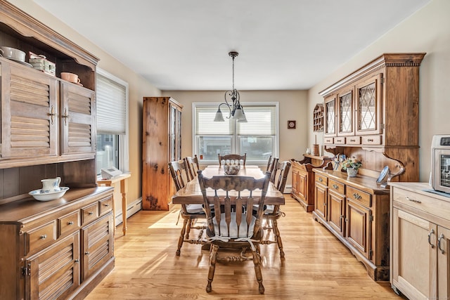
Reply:
M0 205L0 298L83 299L114 268L113 188ZM111 206L109 206L111 207Z

